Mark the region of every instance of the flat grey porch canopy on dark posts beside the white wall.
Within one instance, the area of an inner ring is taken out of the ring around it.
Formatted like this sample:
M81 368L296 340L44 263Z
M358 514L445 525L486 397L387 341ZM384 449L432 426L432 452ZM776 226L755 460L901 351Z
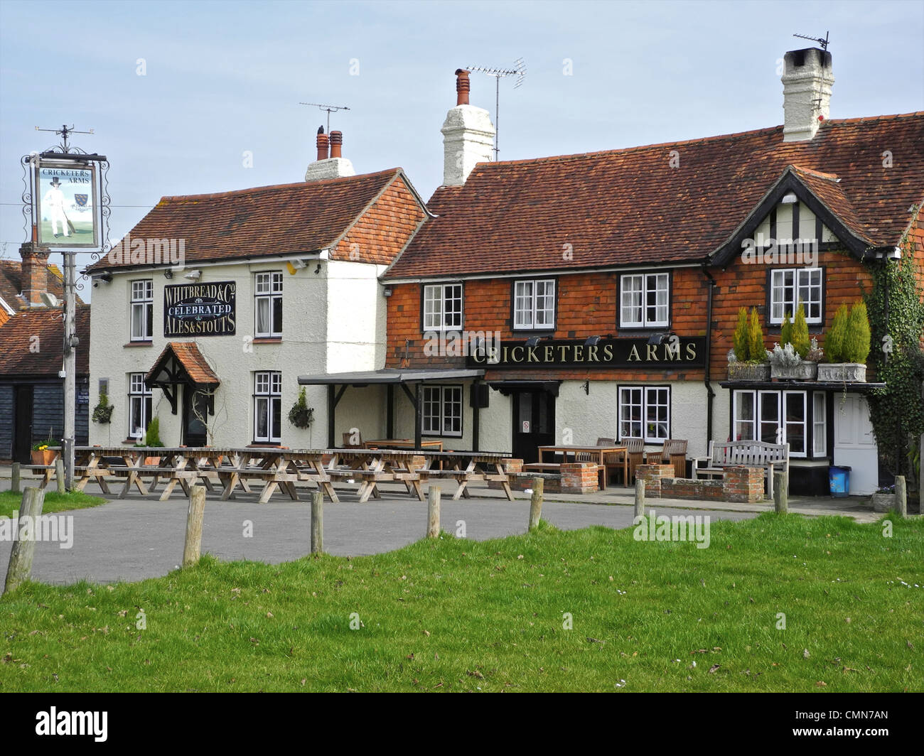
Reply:
M395 384L401 386L414 408L414 447L420 448L420 427L423 404L420 401L420 384L441 383L444 381L479 381L484 377L484 370L413 370L386 368L376 371L334 372L322 375L299 375L299 385L326 385L327 386L327 445L336 447L334 411L340 398L346 391L346 386L368 386L384 384L387 386L387 414L385 421L385 435L392 438L395 435ZM409 386L414 386L411 391ZM339 388L338 388L339 387ZM472 405L472 447L478 450L478 412L477 403Z

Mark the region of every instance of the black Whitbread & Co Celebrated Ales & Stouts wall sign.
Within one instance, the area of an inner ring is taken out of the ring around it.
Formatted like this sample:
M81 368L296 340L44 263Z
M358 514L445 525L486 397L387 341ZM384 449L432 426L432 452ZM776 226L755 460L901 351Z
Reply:
M233 336L237 283L164 287L164 336Z

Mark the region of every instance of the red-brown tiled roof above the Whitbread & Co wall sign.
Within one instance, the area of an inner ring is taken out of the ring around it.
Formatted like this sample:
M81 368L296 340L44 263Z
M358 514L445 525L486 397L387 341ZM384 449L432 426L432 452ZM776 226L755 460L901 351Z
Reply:
M184 239L185 262L325 250L334 245L400 168L219 194L164 197L131 229L131 239ZM130 243L129 243L130 244ZM111 255L89 270L129 262Z

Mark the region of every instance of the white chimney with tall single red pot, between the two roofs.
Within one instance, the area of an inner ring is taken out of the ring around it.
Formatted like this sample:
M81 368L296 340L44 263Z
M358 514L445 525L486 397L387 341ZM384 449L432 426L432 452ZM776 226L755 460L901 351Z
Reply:
M465 183L477 163L491 160L494 127L488 111L468 104L468 71L456 70L456 107L446 114L443 128L443 184Z

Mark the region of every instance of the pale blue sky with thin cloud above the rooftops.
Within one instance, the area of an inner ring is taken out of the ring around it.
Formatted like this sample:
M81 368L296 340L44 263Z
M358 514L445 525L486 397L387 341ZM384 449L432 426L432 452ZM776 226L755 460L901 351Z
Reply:
M524 59L500 82L520 160L779 125L782 57L813 45L793 34L826 32L831 117L924 110L924 0L0 0L0 258L28 238L19 159L58 141L36 127L93 129L71 144L109 159L115 244L161 197L303 180L327 116L299 103L346 105L357 173L400 166L426 200L458 67ZM471 104L496 122L495 79L471 74Z

